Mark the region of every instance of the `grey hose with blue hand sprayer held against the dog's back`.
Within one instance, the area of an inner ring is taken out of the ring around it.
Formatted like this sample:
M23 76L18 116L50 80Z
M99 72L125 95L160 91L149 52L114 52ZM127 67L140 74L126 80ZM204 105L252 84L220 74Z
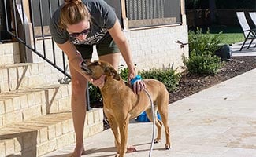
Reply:
M133 78L131 80L131 84L133 86L133 84L136 82L136 81L139 81L139 80L142 80L141 76L140 75L136 75L135 78ZM145 91L145 93L147 93L147 97L150 99L150 104L151 104L151 113L152 113L152 117L153 117L153 133L152 133L152 140L151 140L151 145L150 145L150 153L149 153L149 157L151 157L152 155L152 152L153 152L153 148L154 148L154 138L155 138L155 119L156 119L156 115L154 114L154 103L153 103L153 100L150 96L150 93L148 93L147 89L143 89Z

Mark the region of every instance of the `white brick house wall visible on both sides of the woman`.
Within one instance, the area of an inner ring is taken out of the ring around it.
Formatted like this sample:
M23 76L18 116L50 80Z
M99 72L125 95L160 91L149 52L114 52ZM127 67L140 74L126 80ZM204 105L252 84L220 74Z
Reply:
M124 31L124 35L128 38L128 43L132 50L132 58L137 70L168 68L169 66L178 68L178 71L182 70L181 67L184 66L182 55L184 53L186 57L188 56L188 46L186 45L184 49L181 49L180 44L177 44L175 41L179 40L180 42L187 43L187 25L128 30ZM46 39L44 44L46 47L46 57L53 60L51 38ZM36 46L38 52L43 52L43 40L38 39ZM54 49L57 58L56 63L60 67L63 67L63 63L61 63L61 49L58 49L56 44L54 44ZM34 53L32 53L32 60L34 63L43 62L44 71L49 76L49 82L54 81L54 79L58 81L58 79L64 78L64 75ZM92 60L98 60L96 49L94 50ZM120 64L126 66L122 57Z

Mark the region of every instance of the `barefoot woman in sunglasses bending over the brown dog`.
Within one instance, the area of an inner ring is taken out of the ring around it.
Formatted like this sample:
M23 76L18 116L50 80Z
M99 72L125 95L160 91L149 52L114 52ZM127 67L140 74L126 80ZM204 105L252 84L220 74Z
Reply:
M118 69L120 53L128 66L128 79L135 78L136 71L127 39L113 8L103 0L65 0L51 21L50 32L58 47L69 58L72 76L72 118L76 133L76 148L72 156L81 156L83 148L83 125L85 119L85 89L87 81L102 87L105 76L94 80L80 71L82 60L91 60L92 46L96 45L99 60L105 60ZM135 82L133 89L139 93L145 85ZM128 149L129 150L129 149ZM134 151L131 148L130 151Z

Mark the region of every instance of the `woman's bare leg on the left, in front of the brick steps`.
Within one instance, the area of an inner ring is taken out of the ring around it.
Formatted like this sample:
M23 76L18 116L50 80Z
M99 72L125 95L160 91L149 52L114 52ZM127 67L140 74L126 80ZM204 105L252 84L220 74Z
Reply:
M72 96L71 96L71 108L72 119L76 133L76 148L72 154L72 157L80 157L83 152L83 126L86 115L86 88L87 79L80 75L78 71L70 67L70 74L72 76Z

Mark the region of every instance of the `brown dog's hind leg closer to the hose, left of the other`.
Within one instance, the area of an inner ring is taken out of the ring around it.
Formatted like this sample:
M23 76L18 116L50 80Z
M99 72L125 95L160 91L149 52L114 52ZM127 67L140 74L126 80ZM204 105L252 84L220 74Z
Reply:
M150 122L153 122L153 115L152 115L151 108L147 109L146 113L147 113L147 118L150 119ZM158 136L154 139L154 143L156 144L161 142L161 126L162 126L161 120L158 119L156 108L154 108L154 116L155 116L155 125L158 128Z

